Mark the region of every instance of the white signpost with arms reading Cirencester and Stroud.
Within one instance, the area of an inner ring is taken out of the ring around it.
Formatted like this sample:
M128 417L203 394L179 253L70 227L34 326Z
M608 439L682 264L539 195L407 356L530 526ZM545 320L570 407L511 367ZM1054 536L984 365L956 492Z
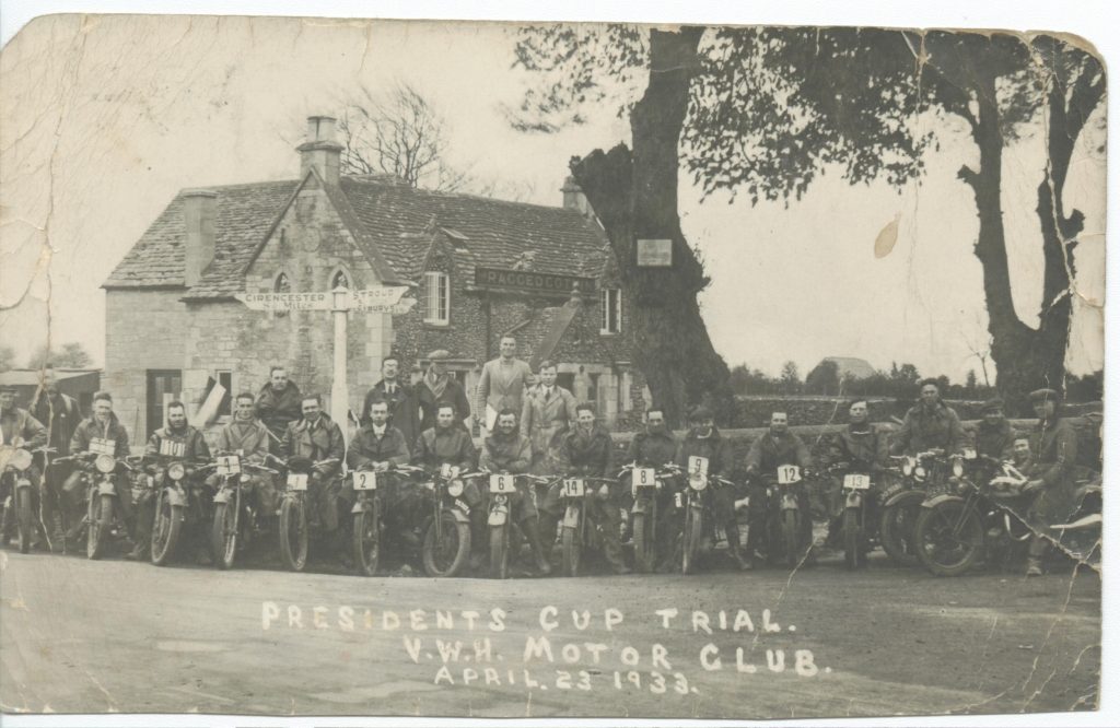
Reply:
M414 298L404 298L408 286L383 286L352 291L338 287L315 293L237 293L235 298L254 311L332 311L335 324L334 381L330 383L330 418L346 431L346 314L407 314Z

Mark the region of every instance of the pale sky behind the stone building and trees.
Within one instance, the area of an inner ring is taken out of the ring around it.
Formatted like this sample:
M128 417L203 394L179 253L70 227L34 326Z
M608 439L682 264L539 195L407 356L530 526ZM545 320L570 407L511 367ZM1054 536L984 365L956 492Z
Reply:
M77 340L102 361L101 282L184 187L293 178L304 119L337 114L364 85L401 81L447 118L450 158L483 179L559 205L572 156L627 141L604 106L558 134L514 131L503 105L532 78L511 71L514 36L500 24L270 18L40 18L4 48L0 72L3 186L0 332L24 361L45 343ZM830 174L803 199L752 206L701 199L681 177L689 242L712 276L701 296L712 340L730 365L802 373L824 356L878 368L911 362L963 381L987 348L976 207L955 175L976 155L959 130L921 185L849 186ZM1066 205L1086 215L1068 364L1103 358L1104 161L1088 140ZM1004 208L1020 317L1036 320L1042 259L1034 195L1038 139L1007 151ZM875 259L897 218L894 251ZM49 246L41 243L47 241ZM46 302L49 299L49 306ZM1088 302L1086 302L1088 301ZM989 363L989 375L995 376Z

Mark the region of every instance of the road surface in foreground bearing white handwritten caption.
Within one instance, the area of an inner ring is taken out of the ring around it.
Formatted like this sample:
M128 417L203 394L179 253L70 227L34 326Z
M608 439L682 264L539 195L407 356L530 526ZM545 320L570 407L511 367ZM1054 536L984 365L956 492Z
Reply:
M1084 572L939 579L876 559L498 582L12 551L0 567L4 711L1060 711L1091 708L1100 675L1100 580Z

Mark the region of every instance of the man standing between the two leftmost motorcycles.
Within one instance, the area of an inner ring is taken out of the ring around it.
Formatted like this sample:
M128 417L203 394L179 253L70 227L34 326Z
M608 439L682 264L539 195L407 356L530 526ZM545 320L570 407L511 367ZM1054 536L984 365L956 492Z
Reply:
M74 430L82 421L82 412L77 401L58 391L58 380L55 370L46 367L40 375L40 383L35 396L31 398L30 412L35 419L43 422L49 435L48 446L54 450L49 458L46 458L46 466L39 494L41 496L43 523L50 533L50 548L62 550L63 544L63 513L69 523L77 523L82 519L81 502L67 502L64 497L63 485L66 478L74 472L74 464L69 460L55 463L55 459L69 455L69 441L74 437ZM43 461L45 458L36 458Z

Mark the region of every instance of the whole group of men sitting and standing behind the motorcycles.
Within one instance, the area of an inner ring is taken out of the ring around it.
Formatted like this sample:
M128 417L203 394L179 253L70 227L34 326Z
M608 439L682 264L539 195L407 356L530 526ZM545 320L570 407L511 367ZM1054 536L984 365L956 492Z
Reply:
M616 477L623 463L638 467L662 468L675 465L683 468L690 458L707 461L709 475L730 483L712 493L711 508L715 524L721 528L728 542L728 554L740 569L753 568L764 544L759 542L767 517L767 484L781 466L795 465L802 470L812 467L809 448L788 429L785 412L774 412L767 432L750 446L745 463L736 463L730 444L716 427L711 412L699 407L689 416L689 430L679 439L666 427L664 412L653 408L646 411L645 428L629 442L619 460L614 452L609 432L596 421L589 404L577 404L568 390L557 384L557 366L542 362L535 376L530 366L514 356L516 340L512 336L501 342L501 355L483 367L475 392L475 417L483 432L480 450L476 450L468 430L469 401L464 388L446 368L445 351L428 355L428 368L414 368L409 382L401 381L400 361L390 356L382 363L382 380L366 394L361 413L361 428L349 447L342 429L324 411L318 394L305 395L288 379L282 366L273 366L269 382L254 396L242 393L235 398L232 420L216 436L216 452L240 452L249 463L263 464L272 455L281 459L307 458L315 464L310 489L321 507L312 510L312 522L328 529L339 525L344 506L353 498L339 475L345 464L351 469L372 468L388 470L410 463L435 472L444 464L458 466L460 472L482 467L494 473L534 474L545 476L568 475L595 480L594 496L588 502L588 515L603 535L604 556L610 568L623 573L628 568L623 559L619 534L623 514L633 503L628 484ZM1060 522L1068 515L1073 498L1073 466L1076 460L1077 438L1072 427L1057 417L1058 394L1048 389L1033 392L1038 422L1028 438L1018 438L1007 422L1002 403L992 400L983 407L976 447L981 457L1011 458L1029 478L1024 492L1033 496L1029 517L1038 525ZM129 437L123 424L112 411L112 398L101 392L94 396L92 416L82 421L75 402L57 391L49 370L31 409L15 407L13 391L0 391L0 423L3 442L22 442L25 447L49 446L53 458L88 450L94 438L115 445L118 457L129 454ZM900 429L888 433L870 423L866 401L855 401L849 408L849 423L836 440L829 458L843 460L853 468L870 473L888 467L889 454L934 451L959 456L964 448L964 432L956 412L941 401L934 380L922 382L920 401L906 413ZM43 422L47 424L44 426ZM174 454L188 460L208 460L211 450L202 432L187 423L186 408L172 402L167 409L167 423L149 439L146 455L149 468L159 477L158 463ZM75 484L78 473L69 464L50 465L41 478L41 513L46 536L52 548L64 538L63 514L69 522L78 522L81 497ZM37 477L37 473L35 474ZM32 477L32 479L35 479ZM271 478L253 476L258 494L258 511L265 516L276 512L279 501L277 484ZM672 568L675 559L673 492L684 487L683 482L669 480L657 497L663 498L661 510L664 521L659 524L656 554L659 569ZM551 570L551 545L562 514L560 483L530 493L531 485L517 498L514 519L533 551L539 572ZM148 492L150 494L150 491ZM153 520L151 497L141 497L133 504L131 496L121 494L122 507L128 517L136 512L133 522L136 549L130 554L141 558L150 542ZM842 503L839 485L833 488L831 507L839 514ZM383 495L390 500L395 513L395 533L404 541L414 541L411 530L416 520L416 493L403 483L390 487ZM470 508L475 566L480 564L486 543L486 491L468 483L464 500ZM748 534L746 547L740 548L736 510L747 504ZM800 505L809 511L808 494L802 491ZM348 508L346 508L348 511ZM806 533L811 519L803 519ZM389 524L386 524L389 525ZM73 528L71 531L73 532ZM832 530L836 535L836 529ZM710 536L710 534L706 534ZM830 536L831 538L831 536ZM1047 542L1036 536L1030 544L1028 575L1042 572L1040 559Z

